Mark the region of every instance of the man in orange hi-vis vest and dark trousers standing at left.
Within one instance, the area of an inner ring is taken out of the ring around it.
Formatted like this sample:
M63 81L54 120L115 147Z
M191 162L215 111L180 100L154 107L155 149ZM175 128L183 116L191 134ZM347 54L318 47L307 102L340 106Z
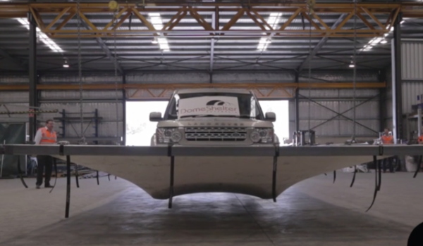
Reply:
M54 144L57 142L56 131L54 131L53 119L47 119L46 126L38 129L35 134L35 144ZM44 187L53 187L50 185L51 169L53 169L53 157L50 155L38 155L37 156L37 183L35 183L37 189L42 185L42 177L45 171L45 183Z

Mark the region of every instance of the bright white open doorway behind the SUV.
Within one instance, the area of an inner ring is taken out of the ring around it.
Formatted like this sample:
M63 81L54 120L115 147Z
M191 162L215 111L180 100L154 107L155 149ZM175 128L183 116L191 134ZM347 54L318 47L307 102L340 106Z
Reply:
M275 133L280 141L289 137L288 101L259 101L262 110L276 113ZM167 101L128 101L126 102L126 145L149 146L156 131L157 122L149 121L150 112L164 115Z

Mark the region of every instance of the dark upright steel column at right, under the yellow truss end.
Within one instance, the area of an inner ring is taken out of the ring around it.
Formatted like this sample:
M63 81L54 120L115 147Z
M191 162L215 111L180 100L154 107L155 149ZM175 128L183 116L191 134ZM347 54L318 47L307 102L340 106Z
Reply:
M393 27L393 137L395 143L403 138L403 90L401 74L401 16L399 15Z

